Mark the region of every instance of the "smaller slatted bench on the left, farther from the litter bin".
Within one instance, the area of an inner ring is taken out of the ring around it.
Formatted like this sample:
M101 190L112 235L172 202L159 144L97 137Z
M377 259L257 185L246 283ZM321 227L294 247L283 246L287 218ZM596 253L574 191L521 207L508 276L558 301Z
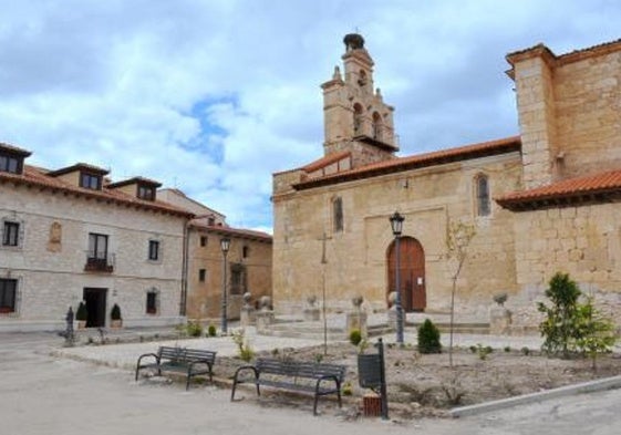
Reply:
M143 362L143 359L148 361ZM139 371L143 369L156 369L158 376L162 376L162 372L185 373L186 390L188 390L189 381L194 376L208 374L209 381L214 381L213 367L215 361L216 352L214 351L161 346L157 353L145 353L138 358L136 364L136 381L138 380Z

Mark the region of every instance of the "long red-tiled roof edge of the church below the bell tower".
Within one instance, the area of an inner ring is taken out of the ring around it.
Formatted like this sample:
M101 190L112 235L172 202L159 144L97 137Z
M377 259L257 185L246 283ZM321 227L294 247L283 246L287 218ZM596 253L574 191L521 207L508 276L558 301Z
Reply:
M497 141L460 146L456 148L413 155L408 157L391 158L389 160L360 166L354 169L342 170L335 174L325 175L323 177L307 179L301 183L294 184L293 188L297 190L310 189L313 187L328 186L361 178L371 178L403 170L411 170L453 162L463 162L472 158L519 152L520 148L521 141L519 136L513 136ZM311 165L315 165L321 160L322 159L317 160Z

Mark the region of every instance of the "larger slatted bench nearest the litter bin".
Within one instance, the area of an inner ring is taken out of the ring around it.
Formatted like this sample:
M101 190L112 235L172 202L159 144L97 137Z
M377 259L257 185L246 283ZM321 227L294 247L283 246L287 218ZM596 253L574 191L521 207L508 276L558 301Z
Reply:
M261 395L259 385L284 389L294 392L314 394L313 415L317 415L319 396L337 394L341 407L341 384L345 377L344 365L321 364L259 358L255 365L245 365L235 372L232 380L231 402L238 384L253 383L257 394ZM245 373L244 376L240 374ZM249 375L247 372L251 372Z

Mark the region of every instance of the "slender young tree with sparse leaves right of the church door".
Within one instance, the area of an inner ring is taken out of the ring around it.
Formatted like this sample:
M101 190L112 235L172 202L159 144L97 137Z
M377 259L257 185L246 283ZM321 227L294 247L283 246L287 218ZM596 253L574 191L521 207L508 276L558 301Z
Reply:
M476 235L476 229L473 224L464 221L449 221L448 234L446 236L446 255L452 260L452 276L453 287L451 290L451 323L449 323L449 338L448 338L448 364L453 366L453 329L455 320L455 292L457 291L457 279L464 267L464 262L468 257L468 246Z

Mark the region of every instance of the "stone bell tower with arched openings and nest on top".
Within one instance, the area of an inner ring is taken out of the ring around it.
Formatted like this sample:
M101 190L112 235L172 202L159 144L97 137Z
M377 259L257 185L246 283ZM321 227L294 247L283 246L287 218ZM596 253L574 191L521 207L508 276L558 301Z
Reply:
M399 151L393 112L373 84L373 59L358 33L343 39L344 76L339 66L323 83L324 154L352 152L354 166L385 160ZM356 164L358 163L358 164Z

